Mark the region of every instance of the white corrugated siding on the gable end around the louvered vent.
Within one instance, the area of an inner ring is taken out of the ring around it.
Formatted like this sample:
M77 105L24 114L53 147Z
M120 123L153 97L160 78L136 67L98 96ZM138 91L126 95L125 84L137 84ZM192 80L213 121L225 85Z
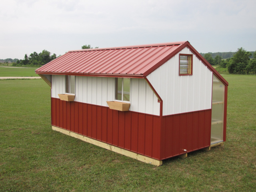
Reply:
M211 108L212 72L193 55L193 74L179 76L179 54L193 54L184 48L147 76L163 100L163 115Z

